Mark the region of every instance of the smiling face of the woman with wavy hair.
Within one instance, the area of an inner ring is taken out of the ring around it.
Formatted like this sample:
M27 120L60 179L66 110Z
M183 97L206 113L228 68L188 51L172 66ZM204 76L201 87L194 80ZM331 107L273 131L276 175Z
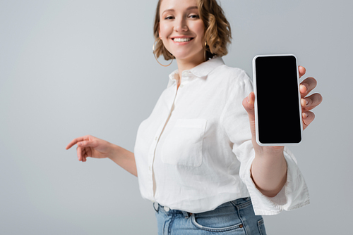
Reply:
M177 60L203 60L204 29L198 15L197 0L162 1L160 38Z

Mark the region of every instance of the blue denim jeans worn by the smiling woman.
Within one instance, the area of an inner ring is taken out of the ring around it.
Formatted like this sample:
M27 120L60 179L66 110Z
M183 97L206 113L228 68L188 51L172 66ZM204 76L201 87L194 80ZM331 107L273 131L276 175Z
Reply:
M263 217L255 215L250 198L224 203L215 210L189 213L154 205L158 235L242 234L265 235Z

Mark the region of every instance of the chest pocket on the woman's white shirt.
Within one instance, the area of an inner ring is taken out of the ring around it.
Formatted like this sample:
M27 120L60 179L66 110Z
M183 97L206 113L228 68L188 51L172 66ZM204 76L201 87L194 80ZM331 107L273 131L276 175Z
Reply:
M199 167L207 120L178 119L162 146L162 162Z

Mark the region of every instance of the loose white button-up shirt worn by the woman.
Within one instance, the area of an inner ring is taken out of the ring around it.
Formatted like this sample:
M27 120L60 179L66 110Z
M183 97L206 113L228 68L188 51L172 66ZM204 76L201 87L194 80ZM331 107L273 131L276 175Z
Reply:
M167 89L138 127L135 158L143 198L198 213L251 197L256 215L309 204L294 155L285 148L287 183L274 198L251 179L255 153L243 99L253 91L244 70L213 58L169 75Z

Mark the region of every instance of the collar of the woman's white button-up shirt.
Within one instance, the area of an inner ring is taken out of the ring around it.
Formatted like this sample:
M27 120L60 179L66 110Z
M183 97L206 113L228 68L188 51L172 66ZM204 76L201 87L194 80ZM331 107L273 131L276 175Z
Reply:
M185 70L183 73L191 72L196 77L207 77L207 75L210 74L212 70L224 64L225 62L222 60L222 57L215 57L211 58L209 61L205 61L195 66L194 68L191 68L190 70ZM167 87L170 87L176 81L174 75L176 75L178 72L178 70L174 70L171 74L169 74L169 82Z

